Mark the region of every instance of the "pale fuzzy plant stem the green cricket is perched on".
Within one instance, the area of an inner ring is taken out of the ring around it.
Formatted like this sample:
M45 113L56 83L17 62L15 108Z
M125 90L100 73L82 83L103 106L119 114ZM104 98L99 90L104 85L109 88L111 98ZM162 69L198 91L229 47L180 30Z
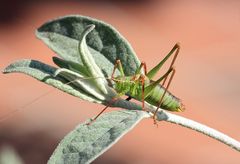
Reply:
M127 108L130 110L141 109L141 106L137 105L136 103L130 102L130 101L125 101L122 99L119 99L119 101L116 102L114 104L114 106L121 107L121 108ZM153 112L155 110L156 110L155 107L148 106L148 111ZM191 130L195 130L195 131L205 134L213 139L216 139L216 140L218 140L240 152L240 142L239 141L227 136L226 134L224 134L222 132L219 132L213 128L210 128L206 125L203 125L203 124L193 121L191 119L169 113L165 110L161 110L157 114L157 120L158 121L167 121L170 123L181 125L183 127L189 128Z

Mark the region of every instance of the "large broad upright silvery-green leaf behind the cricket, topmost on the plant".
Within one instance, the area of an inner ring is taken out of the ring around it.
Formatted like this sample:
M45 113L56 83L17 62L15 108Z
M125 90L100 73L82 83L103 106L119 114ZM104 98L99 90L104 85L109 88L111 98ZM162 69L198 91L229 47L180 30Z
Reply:
M114 27L103 21L81 15L65 16L45 23L36 35L62 59L82 64L78 43L91 24L95 29L87 36L87 45L105 76L111 75L116 59L122 61L127 76L133 75L140 65L134 50Z

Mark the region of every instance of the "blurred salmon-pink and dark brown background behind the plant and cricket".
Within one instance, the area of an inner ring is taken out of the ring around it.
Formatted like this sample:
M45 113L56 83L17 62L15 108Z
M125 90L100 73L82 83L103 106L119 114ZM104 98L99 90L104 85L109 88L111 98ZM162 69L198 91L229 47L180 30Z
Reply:
M44 22L68 14L116 27L148 68L181 42L171 91L185 117L240 140L240 1L1 1L0 68L23 58L52 64L55 55L35 38ZM160 75L160 74L159 74ZM0 74L0 146L25 163L46 163L57 143L103 106L81 101L23 74ZM142 121L94 163L239 163L239 152L202 134L166 122Z

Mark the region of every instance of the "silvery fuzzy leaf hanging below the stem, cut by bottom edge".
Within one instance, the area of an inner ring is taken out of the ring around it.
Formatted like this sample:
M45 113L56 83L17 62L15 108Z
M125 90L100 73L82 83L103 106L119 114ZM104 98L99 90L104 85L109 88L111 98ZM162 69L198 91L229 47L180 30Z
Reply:
M80 124L60 142L48 164L90 163L147 117L143 111L121 110L105 113L90 125Z

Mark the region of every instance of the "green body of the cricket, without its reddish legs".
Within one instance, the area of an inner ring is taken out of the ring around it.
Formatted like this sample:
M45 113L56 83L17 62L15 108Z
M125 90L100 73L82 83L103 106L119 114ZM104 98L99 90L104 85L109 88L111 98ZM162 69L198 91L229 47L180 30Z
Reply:
M140 80L133 80L132 76L117 77L115 80L114 89L120 95L129 95L136 100L142 100L142 83ZM146 77L144 82L144 88L150 84L150 80ZM158 106L159 101L165 91L161 85L156 86L150 94L145 98L145 101L154 106ZM170 92L166 92L163 102L160 106L162 109L170 111L182 111L184 107L177 97Z

